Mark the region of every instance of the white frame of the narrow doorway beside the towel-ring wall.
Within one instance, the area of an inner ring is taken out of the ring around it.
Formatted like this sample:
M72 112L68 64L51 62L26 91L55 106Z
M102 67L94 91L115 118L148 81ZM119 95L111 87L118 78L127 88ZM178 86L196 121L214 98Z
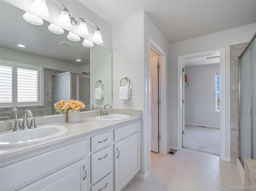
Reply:
M155 43L150 37L148 39L148 64L146 67L146 81L150 82L150 49L152 49L155 53L159 56L159 63L160 63L160 78L159 78L159 94L160 94L160 100L161 104L159 106L159 134L161 135L160 141L159 141L159 153L160 154L166 154L168 151L166 150L166 53L163 51L163 49L158 46L157 43ZM148 93L145 94L145 100L146 100L146 107L148 107L148 130L149 130L149 136L148 136L148 142L149 142L149 153L150 153L150 86L148 85L149 90ZM150 155L149 155L150 158ZM150 161L151 163L151 161ZM150 170L151 171L151 170Z

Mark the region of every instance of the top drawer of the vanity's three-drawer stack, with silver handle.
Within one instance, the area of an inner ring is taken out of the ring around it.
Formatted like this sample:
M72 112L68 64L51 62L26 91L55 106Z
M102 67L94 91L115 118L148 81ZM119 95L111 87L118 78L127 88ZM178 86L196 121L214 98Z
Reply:
M100 150L112 143L112 132L108 131L91 137L91 152Z

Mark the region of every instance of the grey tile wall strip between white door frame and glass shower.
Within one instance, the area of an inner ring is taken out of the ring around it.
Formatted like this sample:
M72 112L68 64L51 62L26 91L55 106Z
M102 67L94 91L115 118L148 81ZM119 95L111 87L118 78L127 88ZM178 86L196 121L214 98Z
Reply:
M236 163L238 157L238 56L247 45L248 43L242 43L230 46L230 162L233 163Z

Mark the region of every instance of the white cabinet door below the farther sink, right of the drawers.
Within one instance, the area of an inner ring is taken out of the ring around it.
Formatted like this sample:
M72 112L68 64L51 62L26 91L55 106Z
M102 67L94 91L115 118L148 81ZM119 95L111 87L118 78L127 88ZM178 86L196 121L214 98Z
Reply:
M114 187L121 190L140 170L140 132L114 144Z

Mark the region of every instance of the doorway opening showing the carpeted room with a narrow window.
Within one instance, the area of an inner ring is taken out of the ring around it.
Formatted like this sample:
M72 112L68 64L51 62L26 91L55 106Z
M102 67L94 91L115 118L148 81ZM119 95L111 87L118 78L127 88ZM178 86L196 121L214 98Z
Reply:
M183 64L184 148L220 155L220 52Z

